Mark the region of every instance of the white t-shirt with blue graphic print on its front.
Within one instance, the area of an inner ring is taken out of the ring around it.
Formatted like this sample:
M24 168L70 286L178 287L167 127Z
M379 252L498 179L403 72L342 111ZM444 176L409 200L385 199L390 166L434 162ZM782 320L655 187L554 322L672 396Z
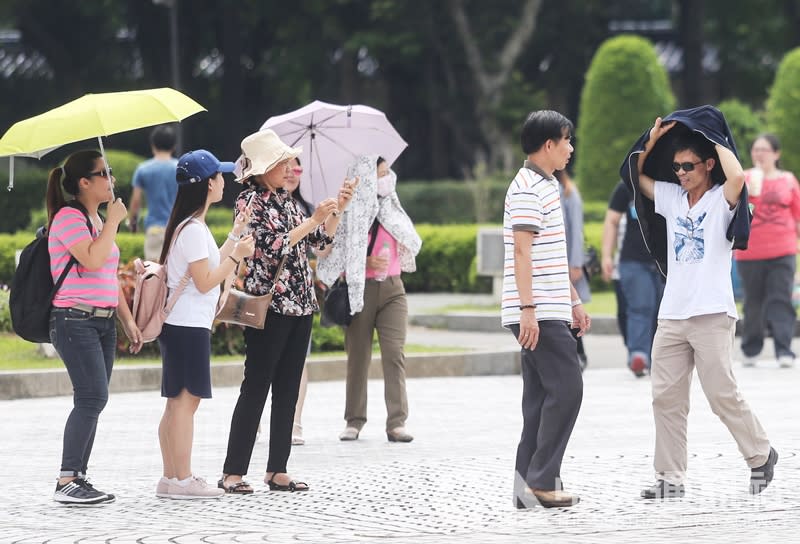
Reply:
M659 319L725 312L738 319L731 285L733 243L725 236L736 208L715 185L689 209L688 193L657 181L655 210L667 221L667 285Z

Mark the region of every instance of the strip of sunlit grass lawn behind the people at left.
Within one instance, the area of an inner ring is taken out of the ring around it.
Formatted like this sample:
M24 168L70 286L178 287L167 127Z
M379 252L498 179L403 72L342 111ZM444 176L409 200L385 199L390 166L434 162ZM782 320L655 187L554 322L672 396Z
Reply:
M378 351L377 349L375 351ZM443 346L421 346L417 344L407 344L406 353L452 353L463 351L458 347ZM18 336L10 333L0 334L0 353L3 358L0 360L1 370L34 370L47 368L64 368L61 359L48 359L40 355L37 345L27 342ZM311 359L322 357L338 356L344 357L343 351L333 351L325 353L312 353ZM241 362L243 355L215 355L212 358L214 363ZM160 365L161 359L144 357L117 357L114 365Z

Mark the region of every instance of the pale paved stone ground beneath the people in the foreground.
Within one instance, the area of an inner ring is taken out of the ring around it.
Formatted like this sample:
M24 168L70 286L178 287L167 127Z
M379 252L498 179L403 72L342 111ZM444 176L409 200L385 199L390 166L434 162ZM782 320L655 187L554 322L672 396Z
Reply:
M639 499L652 481L649 381L595 367L584 376L584 404L563 470L582 502L564 510L512 506L518 376L409 380L411 444L386 441L380 382L370 383L370 422L354 443L337 439L343 383L312 383L307 445L290 459L293 475L311 491L267 490L261 437L250 468L256 493L208 501L154 496L163 401L157 392L116 394L101 418L90 476L118 500L90 509L51 500L71 399L2 401L0 542L796 541L800 368L765 363L736 373L781 456L776 480L761 496L747 494L749 471L695 380L687 496ZM219 477L236 394L215 390L197 414L194 470L211 481Z

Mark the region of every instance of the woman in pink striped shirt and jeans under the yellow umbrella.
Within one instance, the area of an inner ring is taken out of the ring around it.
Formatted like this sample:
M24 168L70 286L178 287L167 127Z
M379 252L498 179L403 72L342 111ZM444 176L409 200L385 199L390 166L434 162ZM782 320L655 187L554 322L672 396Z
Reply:
M108 382L117 349L116 315L131 341L142 347L128 303L117 281L115 242L127 210L113 199L114 177L98 151L73 153L47 181L48 250L55 283L71 259L66 279L53 297L50 342L67 367L73 408L64 428L61 472L53 499L69 505L96 505L115 497L86 477L100 412L108 402ZM64 192L74 200L67 202ZM105 222L98 213L108 202Z

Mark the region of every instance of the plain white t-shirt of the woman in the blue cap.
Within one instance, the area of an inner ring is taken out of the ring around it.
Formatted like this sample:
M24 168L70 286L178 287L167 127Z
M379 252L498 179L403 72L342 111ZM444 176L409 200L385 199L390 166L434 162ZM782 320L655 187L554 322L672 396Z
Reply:
M167 286L170 293L180 283L189 269L189 263L208 259L208 268L219 266L219 248L205 223L192 219L178 233L178 239L167 256ZM219 299L219 285L203 294L197 290L194 280L183 289L178 301L167 316L166 323L182 327L204 327L210 329Z

